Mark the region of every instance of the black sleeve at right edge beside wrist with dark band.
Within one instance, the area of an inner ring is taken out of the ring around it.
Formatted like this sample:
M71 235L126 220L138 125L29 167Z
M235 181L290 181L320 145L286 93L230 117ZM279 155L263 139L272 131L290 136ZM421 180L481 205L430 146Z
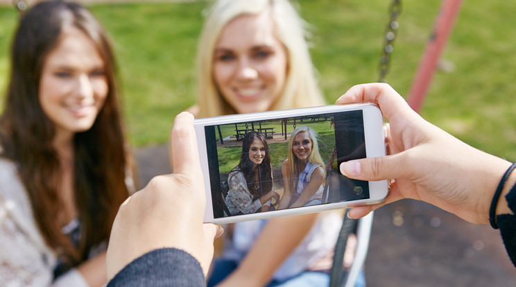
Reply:
M497 223L510 261L516 267L516 184L510 189L506 199L513 214L500 214L497 216Z

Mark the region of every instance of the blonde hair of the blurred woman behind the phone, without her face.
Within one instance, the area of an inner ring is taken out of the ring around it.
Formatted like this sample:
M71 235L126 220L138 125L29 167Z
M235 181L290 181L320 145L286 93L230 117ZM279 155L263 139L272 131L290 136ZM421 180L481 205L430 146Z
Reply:
M283 94L271 110L324 105L316 81L316 69L311 62L305 40L307 23L301 19L288 0L219 0L209 10L197 51L199 116L235 114L216 87L212 75L215 45L227 23L240 15L259 15L270 9L279 42L288 55L288 71Z

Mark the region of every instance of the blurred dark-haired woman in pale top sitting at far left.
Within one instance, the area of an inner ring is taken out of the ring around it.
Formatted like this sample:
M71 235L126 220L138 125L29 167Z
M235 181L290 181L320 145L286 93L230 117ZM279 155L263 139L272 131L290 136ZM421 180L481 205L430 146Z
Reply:
M107 34L82 6L19 22L0 116L0 286L103 286L105 248L134 190Z

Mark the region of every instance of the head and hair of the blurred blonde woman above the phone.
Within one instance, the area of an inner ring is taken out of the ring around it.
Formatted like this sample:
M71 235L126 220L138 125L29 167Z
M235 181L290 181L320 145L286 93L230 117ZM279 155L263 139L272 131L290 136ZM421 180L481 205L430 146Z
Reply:
M241 21L254 23L235 24ZM205 117L325 105L305 26L286 0L217 1L200 35L192 111Z

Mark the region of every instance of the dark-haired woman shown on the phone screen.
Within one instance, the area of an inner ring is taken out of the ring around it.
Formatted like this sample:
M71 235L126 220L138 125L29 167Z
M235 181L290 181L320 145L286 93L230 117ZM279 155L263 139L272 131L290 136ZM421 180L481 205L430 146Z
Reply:
M239 165L227 176L227 182L225 205L230 215L269 211L271 200L279 200L273 191L269 149L262 134L253 131L243 137Z

